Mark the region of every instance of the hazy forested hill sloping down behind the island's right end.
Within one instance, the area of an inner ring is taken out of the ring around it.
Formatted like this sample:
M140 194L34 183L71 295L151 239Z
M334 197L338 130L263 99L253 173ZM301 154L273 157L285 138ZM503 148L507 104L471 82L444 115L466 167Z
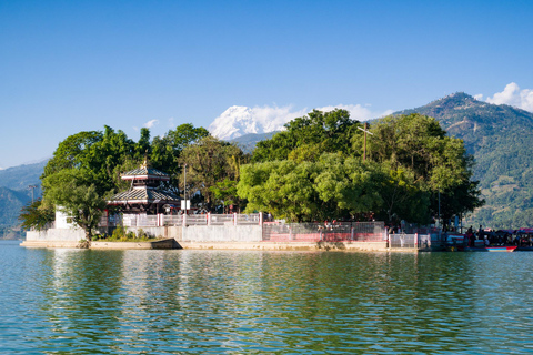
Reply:
M481 182L486 204L467 223L533 226L533 113L462 92L394 114L413 112L438 119L475 158L474 179Z

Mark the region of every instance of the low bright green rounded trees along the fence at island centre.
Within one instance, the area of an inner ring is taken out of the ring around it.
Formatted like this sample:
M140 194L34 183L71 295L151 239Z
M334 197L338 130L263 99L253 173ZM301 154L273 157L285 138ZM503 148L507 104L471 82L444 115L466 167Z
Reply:
M375 163L324 153L316 162L243 165L238 193L248 200L247 211L289 221L354 219L381 207L381 175Z

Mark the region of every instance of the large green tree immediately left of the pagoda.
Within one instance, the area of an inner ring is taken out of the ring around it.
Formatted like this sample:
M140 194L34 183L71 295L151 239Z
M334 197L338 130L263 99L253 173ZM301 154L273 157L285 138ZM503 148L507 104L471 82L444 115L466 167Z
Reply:
M46 206L61 209L91 240L105 209L105 197L124 189L120 173L139 166L150 150L150 131L139 142L122 131L80 132L60 142L41 176Z

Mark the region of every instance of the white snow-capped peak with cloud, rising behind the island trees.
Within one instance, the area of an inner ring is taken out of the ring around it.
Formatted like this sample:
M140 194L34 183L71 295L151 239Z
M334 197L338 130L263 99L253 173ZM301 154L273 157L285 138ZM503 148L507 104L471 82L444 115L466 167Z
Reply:
M305 111L291 112L290 108L247 108L231 106L209 125L212 135L221 140L232 140L248 133L281 131L283 124Z

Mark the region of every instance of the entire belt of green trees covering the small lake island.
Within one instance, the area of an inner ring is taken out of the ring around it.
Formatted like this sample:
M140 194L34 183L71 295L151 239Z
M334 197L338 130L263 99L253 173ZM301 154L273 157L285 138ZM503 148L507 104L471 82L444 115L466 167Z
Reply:
M410 114L372 122L366 160L359 128L346 110L313 110L258 143L251 159L192 124L152 140L142 129L138 142L109 126L80 132L59 143L41 176L42 202L22 219L24 225L42 225L50 207L60 206L90 240L105 197L127 189L120 174L144 156L170 174L167 189L177 193L185 187L187 164L187 190L199 192L208 210L248 203L247 211L290 221L428 223L439 210L450 219L483 204L472 180L472 156L436 120Z

